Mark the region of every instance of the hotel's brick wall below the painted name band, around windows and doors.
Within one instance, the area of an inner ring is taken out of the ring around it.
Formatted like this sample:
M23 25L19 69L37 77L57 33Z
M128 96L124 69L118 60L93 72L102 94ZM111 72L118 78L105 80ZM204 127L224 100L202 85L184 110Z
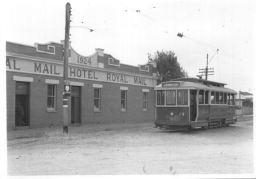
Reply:
M63 78L47 75L7 72L7 127L15 126L15 81L13 75L32 77L29 85L29 119L31 127L49 127L63 124ZM57 84L57 111L47 112L47 83L45 79L59 80ZM99 81L73 80L84 83L81 87L81 120L82 124L111 123L111 122L154 122L155 96L153 87L123 85L119 83L100 82L101 110L94 112L94 87ZM127 112L121 112L121 89L128 87ZM142 89L149 89L148 112L143 112ZM71 97L69 97L69 124L71 122Z

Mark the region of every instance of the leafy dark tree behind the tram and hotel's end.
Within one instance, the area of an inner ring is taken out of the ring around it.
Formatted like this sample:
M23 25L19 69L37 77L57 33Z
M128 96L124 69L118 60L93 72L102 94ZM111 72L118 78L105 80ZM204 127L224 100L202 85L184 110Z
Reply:
M157 63L158 84L174 78L189 77L178 62L177 56L170 50L166 52L163 50L161 52L156 51L154 56L149 53L148 59Z

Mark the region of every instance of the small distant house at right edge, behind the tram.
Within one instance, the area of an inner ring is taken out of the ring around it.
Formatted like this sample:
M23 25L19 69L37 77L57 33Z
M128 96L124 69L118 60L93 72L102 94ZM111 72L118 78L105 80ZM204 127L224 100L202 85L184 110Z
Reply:
M253 94L240 92L236 95L236 106L253 108Z

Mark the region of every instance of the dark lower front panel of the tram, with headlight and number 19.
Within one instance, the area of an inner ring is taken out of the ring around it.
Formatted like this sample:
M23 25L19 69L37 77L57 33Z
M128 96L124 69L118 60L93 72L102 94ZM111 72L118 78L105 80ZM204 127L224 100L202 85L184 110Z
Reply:
M156 120L165 122L188 122L189 107L157 107Z

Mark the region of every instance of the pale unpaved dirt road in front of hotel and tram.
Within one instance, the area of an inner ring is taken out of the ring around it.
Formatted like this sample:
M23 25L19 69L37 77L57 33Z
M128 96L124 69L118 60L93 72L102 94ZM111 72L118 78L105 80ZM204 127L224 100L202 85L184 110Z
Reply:
M7 174L253 174L252 118L209 130L145 127L13 139Z

